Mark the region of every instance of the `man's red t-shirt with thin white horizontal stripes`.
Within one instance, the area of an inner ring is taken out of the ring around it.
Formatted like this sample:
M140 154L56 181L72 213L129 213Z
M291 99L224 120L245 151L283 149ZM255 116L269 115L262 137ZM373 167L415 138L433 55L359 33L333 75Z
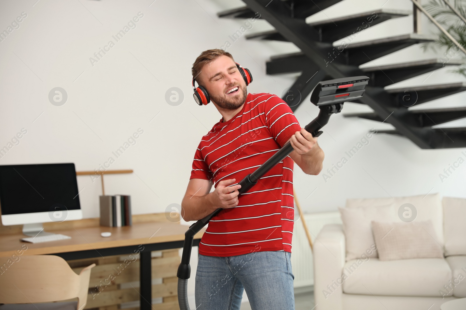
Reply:
M202 137L192 162L191 178L239 183L301 130L287 103L270 93L248 93L232 119ZM213 217L199 244L208 256L235 256L253 251L291 252L294 224L293 159L287 156L240 194L236 207Z

